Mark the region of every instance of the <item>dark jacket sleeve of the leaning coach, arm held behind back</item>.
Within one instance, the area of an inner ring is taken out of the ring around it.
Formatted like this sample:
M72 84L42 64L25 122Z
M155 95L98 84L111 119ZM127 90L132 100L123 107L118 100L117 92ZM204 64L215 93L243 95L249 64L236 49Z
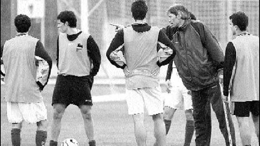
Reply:
M210 32L207 26L203 25L201 22L196 23L200 24L199 35L201 37L202 45L207 49L213 64L217 67L217 69L223 68L224 53L216 37L212 34L212 32Z

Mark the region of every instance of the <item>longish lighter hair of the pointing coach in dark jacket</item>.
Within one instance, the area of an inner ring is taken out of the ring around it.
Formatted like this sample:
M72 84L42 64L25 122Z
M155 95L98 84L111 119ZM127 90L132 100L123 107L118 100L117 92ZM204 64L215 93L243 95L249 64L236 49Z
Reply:
M170 8L168 9L168 13L174 14L175 16L177 16L179 12L181 12L181 14L182 14L181 19L190 19L190 12L183 5L176 4L176 5L170 6Z

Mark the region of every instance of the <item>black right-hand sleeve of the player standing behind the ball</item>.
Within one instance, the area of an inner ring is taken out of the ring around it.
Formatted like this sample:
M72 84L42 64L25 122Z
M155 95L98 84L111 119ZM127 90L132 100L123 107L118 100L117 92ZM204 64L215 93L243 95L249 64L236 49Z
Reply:
M93 63L93 68L90 71L90 75L96 76L100 68L101 55L98 45L91 35L87 39L87 51Z

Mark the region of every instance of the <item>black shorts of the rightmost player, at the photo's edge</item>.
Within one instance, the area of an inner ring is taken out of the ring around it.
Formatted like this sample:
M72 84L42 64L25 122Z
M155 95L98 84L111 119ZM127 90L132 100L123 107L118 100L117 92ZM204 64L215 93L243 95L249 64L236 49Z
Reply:
M249 117L250 112L254 116L259 116L259 101L233 102L234 113L237 117Z

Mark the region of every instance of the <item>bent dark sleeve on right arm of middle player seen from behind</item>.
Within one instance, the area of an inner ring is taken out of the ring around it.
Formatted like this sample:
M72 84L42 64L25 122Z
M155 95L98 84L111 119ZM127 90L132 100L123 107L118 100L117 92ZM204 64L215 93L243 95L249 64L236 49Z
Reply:
M173 60L173 58L175 57L176 48L174 47L173 42L171 42L170 39L167 37L167 35L163 32L163 30L160 30L160 32L159 32L158 42L162 43L163 45L165 45L173 50L173 53L168 58L166 58L162 62L157 61L158 66L166 65L166 64L170 63L170 61Z

